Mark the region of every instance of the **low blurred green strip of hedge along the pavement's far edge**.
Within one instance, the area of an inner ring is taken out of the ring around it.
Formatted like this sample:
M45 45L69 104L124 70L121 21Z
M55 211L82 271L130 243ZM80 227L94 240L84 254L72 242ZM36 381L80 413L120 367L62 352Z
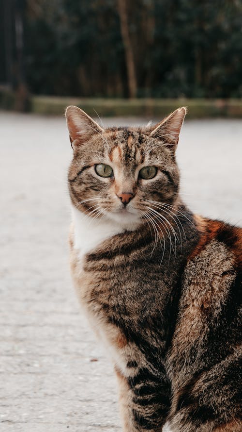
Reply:
M0 108L15 109L16 94L0 90ZM103 99L30 96L28 111L43 115L63 115L68 105L76 105L90 116L143 116L163 118L180 106L188 107L188 118L242 117L242 100L205 99Z

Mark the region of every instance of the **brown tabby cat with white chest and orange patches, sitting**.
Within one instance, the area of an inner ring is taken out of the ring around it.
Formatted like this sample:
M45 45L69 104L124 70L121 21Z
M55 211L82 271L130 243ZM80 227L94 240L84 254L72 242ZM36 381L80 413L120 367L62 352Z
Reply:
M66 110L71 271L113 360L125 432L242 432L242 229L181 200L185 114L104 129Z

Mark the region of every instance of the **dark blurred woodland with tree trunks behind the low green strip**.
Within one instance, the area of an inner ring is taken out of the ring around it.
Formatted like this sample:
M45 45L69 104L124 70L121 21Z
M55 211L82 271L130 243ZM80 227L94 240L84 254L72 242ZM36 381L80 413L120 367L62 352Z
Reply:
M242 97L241 0L0 0L0 83L82 97Z

